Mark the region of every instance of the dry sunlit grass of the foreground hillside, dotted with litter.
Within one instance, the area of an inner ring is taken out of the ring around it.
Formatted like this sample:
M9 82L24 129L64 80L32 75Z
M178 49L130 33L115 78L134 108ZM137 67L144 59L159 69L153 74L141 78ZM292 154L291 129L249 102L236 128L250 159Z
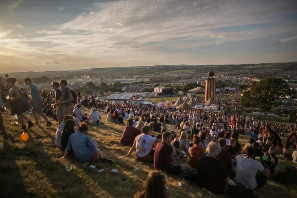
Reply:
M89 110L84 109L89 113ZM106 114L101 113L105 121ZM89 136L95 137L99 148L106 158L114 164L104 164L99 161L80 163L71 156L66 160L60 159L63 153L54 144L57 123L46 128L45 123L28 130L30 138L23 143L19 135L19 126L10 123L14 121L9 114L3 114L4 123L15 139L10 146L5 145L0 151L0 197L133 197L143 185L149 171L153 170L152 163L136 160L135 153L125 157L129 148L119 144L124 126L114 123L102 124L100 127L90 127ZM32 120L32 115L29 115ZM42 138L42 143L37 140ZM240 135L240 144L247 142L248 137ZM284 139L283 139L284 141ZM3 138L0 136L0 143ZM187 159L180 161L187 163ZM280 163L291 164L280 158ZM67 172L65 167L72 165L73 170ZM89 168L90 165L96 169ZM133 168L140 166L137 172ZM99 173L97 170L104 169ZM110 170L118 169L119 174ZM202 192L195 183L183 181L184 187L178 187L177 176L166 175L167 186L171 197L213 197L227 198L229 195L210 196ZM262 189L254 191L259 197L295 197L296 185L284 185L269 181Z

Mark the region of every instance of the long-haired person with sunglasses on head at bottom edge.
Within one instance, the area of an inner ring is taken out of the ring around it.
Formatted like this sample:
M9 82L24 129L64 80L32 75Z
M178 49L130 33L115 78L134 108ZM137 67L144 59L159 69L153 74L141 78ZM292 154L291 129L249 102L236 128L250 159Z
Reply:
M134 198L168 198L169 192L163 172L153 171L148 174L144 186L136 192Z

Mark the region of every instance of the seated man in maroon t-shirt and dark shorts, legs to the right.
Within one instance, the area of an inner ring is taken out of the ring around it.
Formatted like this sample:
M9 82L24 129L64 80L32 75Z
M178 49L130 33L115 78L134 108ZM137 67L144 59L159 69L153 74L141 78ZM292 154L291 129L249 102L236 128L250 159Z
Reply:
M154 169L165 171L168 174L179 174L181 170L187 171L191 168L188 164L177 164L174 159L175 148L171 146L172 134L165 132L162 134L162 142L159 142L154 153ZM170 160L173 165L170 165Z

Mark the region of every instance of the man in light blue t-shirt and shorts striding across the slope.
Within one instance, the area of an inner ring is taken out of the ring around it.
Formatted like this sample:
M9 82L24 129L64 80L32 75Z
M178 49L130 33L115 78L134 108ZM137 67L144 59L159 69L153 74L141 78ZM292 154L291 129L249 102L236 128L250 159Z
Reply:
M35 84L32 83L31 79L25 78L24 83L28 86L30 86L30 92L31 92L31 100L29 102L33 102L32 107L32 114L35 118L36 124L38 125L38 114L45 119L46 126L50 127L52 125L51 122L49 122L49 119L46 117L46 115L42 112L42 102L43 99L40 95L40 92ZM24 95L24 94L23 94Z

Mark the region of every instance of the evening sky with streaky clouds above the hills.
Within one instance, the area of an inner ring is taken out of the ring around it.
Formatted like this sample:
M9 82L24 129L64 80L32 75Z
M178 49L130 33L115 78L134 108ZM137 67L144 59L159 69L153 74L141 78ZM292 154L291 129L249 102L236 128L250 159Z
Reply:
M296 0L0 0L0 73L292 61Z

